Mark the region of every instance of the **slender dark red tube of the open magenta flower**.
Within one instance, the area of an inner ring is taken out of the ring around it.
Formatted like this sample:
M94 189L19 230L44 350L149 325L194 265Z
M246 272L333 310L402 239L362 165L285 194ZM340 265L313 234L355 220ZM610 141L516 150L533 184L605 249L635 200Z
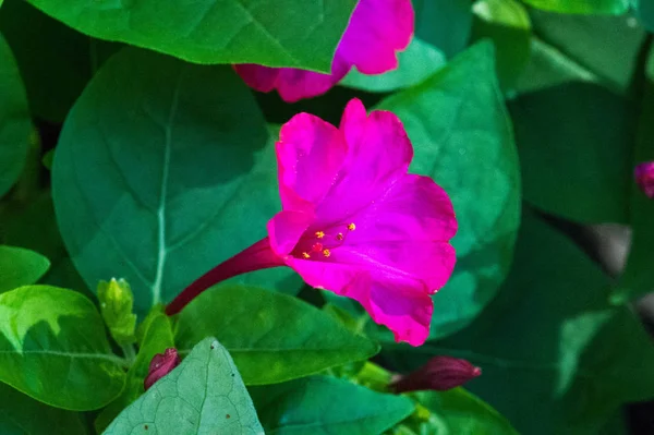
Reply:
M231 258L226 259L211 270L204 274L186 287L178 297L166 306L169 316L182 311L189 302L194 300L209 287L249 271L283 266L283 261L270 249L268 238L259 240L255 244L241 251Z

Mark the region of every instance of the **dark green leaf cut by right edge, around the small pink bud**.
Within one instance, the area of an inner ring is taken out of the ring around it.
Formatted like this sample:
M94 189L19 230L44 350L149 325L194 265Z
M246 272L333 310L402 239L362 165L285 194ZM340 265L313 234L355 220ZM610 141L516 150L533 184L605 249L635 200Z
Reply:
M654 50L650 48L646 63L646 76L642 90L642 107L638 118L638 135L633 160L626 173L631 184L629 194L629 223L631 225L631 250L627 265L619 279L618 287L613 292L614 302L621 303L654 288L654 201L650 200L633 180L633 168L644 161L654 160Z

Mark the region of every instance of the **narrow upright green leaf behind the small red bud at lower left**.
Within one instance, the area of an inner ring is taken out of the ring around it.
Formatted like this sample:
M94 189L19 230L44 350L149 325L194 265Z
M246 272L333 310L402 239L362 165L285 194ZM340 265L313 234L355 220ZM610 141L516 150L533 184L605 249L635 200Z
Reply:
M109 424L130 403L144 392L144 380L149 363L157 353L174 347L170 318L160 309L155 307L138 326L138 354L128 372L125 388L118 399L112 401L95 421L97 433L102 433Z

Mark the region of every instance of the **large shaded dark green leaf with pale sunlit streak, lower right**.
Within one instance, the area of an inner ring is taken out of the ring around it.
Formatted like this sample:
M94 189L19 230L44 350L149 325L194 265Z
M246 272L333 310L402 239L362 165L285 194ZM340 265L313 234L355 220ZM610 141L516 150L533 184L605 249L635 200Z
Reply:
M654 347L609 279L565 235L525 214L516 263L465 330L426 346L483 370L465 386L530 435L597 434L628 401L654 397ZM534 406L537 403L537 406Z

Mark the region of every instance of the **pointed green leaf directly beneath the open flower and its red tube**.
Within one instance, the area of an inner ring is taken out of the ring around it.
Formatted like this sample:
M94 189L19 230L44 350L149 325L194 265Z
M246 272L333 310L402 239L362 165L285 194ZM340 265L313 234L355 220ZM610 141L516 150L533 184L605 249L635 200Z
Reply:
M378 351L305 302L243 286L217 286L182 311L175 329L180 349L208 335L229 350L247 385L306 376Z

